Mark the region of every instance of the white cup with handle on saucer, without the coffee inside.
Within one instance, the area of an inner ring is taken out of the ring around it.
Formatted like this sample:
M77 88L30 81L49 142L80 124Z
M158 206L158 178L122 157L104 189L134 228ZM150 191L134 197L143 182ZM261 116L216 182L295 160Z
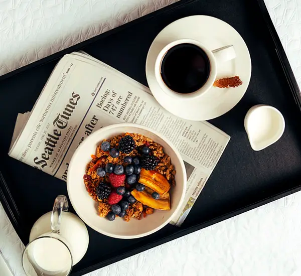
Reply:
M189 43L198 46L201 48L205 54L207 55L210 63L210 72L209 77L205 84L199 88L198 90L192 92L192 93L178 93L170 89L165 82L163 81L162 75L161 75L161 66L162 61L167 54L167 52L173 48L176 45ZM199 97L200 95L206 93L210 88L212 88L212 85L214 81L216 80L216 75L218 71L218 64L226 62L228 60L232 60L236 57L234 47L233 45L227 45L215 50L209 50L206 46L204 46L199 41L193 40L193 39L179 39L176 41L173 41L166 45L159 53L156 62L155 62L155 77L161 86L162 90L167 93L168 95L178 98L178 99L191 99L195 97Z

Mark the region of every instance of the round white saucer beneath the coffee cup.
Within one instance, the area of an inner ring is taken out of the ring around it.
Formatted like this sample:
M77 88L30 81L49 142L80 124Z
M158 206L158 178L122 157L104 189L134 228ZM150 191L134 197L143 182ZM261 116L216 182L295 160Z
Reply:
M183 101L166 94L155 78L156 58L167 44L187 38L198 40L211 50L233 45L236 58L218 64L217 78L237 75L243 84L236 88L212 87L197 99ZM150 91L165 109L176 116L201 121L225 114L241 100L251 78L251 58L244 40L229 24L214 17L191 16L173 22L158 34L149 48L145 70Z

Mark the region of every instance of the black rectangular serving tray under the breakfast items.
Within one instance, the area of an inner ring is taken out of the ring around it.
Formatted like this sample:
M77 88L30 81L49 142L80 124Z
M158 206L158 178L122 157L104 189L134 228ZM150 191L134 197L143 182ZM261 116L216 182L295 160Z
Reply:
M0 199L18 235L27 244L33 223L50 211L57 195L67 195L63 181L8 156L18 112L31 110L58 59L84 50L147 85L144 68L150 44L168 24L192 15L213 16L229 23L250 51L252 76L245 96L231 111L210 121L231 135L231 140L181 227L168 225L133 240L109 238L88 227L89 248L72 275L87 273L301 190L301 97L263 0L182 0L0 77ZM247 110L259 103L278 108L286 128L277 143L254 152L243 119Z

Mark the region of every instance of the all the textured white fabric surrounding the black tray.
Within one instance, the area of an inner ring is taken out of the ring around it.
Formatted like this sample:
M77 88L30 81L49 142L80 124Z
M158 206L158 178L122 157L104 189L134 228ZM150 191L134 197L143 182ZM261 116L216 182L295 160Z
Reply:
M0 72L7 73L172 2L176 1L0 0ZM301 85L301 2L265 2ZM23 248L0 205L0 250L15 275L24 275ZM87 275L297 276L301 275L300 259L301 192Z

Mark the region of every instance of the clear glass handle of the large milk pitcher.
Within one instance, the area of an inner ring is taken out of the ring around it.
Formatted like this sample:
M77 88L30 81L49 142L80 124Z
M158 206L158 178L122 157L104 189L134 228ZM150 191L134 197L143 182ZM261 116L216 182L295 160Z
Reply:
M61 228L62 211L68 212L68 199L64 195L56 197L51 213L51 231L59 234Z

